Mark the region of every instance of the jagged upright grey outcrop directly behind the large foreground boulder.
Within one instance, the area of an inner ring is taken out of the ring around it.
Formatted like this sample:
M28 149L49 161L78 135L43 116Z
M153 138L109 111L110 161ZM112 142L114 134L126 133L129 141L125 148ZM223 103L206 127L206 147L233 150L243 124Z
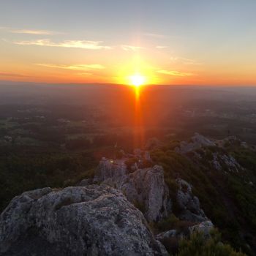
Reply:
M127 199L135 204L148 221L158 221L170 212L169 190L165 184L161 166L125 173L124 165L105 165L100 162L94 181L104 181L111 187L120 189Z

